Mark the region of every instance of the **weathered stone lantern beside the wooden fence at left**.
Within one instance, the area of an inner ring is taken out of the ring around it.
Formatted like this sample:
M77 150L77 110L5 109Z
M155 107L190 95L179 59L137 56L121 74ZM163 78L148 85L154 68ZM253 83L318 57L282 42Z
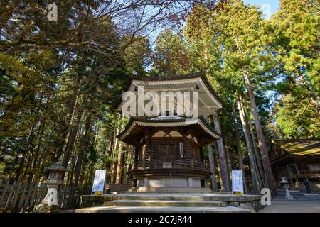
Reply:
M36 212L53 212L58 210L58 187L62 183L61 177L63 172L65 172L65 167L62 165L62 160L59 159L58 162L46 167L45 170L49 171L49 177L43 184L48 187L48 192L41 201L41 204L36 206Z

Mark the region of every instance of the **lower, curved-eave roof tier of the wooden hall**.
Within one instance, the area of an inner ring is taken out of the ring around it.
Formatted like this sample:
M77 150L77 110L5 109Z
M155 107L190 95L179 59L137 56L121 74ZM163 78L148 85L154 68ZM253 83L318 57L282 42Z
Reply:
M213 143L220 138L220 133L214 130L203 116L199 118L178 118L165 117L154 119L130 118L124 131L117 135L119 140L124 141L130 145L134 145L139 140L139 135L144 131L144 128L183 128L189 127L192 131L199 135L202 139L202 145L205 143Z

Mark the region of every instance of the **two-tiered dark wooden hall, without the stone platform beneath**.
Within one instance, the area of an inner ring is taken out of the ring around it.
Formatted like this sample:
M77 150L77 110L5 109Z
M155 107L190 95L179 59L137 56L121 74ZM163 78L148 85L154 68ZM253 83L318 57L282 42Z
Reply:
M124 92L138 94L161 92L198 92L198 116L183 114L131 116L117 137L134 146L134 165L128 172L133 189L138 192L174 188L208 189L211 172L206 167L202 149L220 138L206 121L206 116L222 107L221 101L203 73L171 78L137 78L129 80ZM138 95L139 96L139 95ZM124 100L117 109L120 111Z

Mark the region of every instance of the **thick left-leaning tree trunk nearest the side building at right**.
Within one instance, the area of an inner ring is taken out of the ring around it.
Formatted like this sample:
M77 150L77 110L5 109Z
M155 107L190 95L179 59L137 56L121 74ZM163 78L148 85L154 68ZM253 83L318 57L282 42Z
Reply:
M260 151L262 153L262 163L265 167L266 173L266 186L272 191L273 194L277 194L275 184L274 184L274 177L272 174L272 169L269 160L269 154L267 152L267 145L265 143L265 135L263 135L259 114L257 113L257 105L255 104L255 95L253 94L250 78L247 72L243 73L245 77L245 84L247 86L247 93L250 99L250 105L252 109L253 118L255 120L255 129L257 131L257 139L259 142Z

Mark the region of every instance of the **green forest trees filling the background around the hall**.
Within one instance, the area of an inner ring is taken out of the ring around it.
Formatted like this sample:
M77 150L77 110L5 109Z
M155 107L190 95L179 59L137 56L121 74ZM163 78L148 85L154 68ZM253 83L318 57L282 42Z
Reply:
M178 24L178 13L153 17L156 11L146 13L139 1L132 8L117 8L115 1L95 18L104 1L56 3L63 12L58 23L43 18L42 1L0 4L6 8L0 15L0 178L39 180L60 156L70 168L69 183L76 176L90 183L92 171L111 170L119 153L132 165L129 148L114 147L128 121L114 106L132 74L206 72L223 99L221 128L233 160L237 94L250 106L244 72L266 135L320 136L318 1L281 0L270 21L241 0L194 3L181 30L166 24L154 44L146 36L154 29L147 18L168 16ZM282 97L274 108L272 95Z

